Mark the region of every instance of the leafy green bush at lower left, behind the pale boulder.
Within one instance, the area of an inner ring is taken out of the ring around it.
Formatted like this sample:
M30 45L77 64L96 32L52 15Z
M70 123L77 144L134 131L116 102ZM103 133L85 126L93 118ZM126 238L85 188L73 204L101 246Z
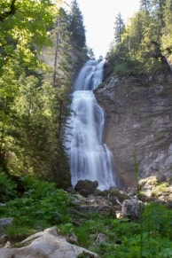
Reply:
M26 192L22 198L7 203L6 215L15 220L24 220L29 225L35 221L57 224L70 221L68 215L69 200L67 193L55 188L55 184L38 179L22 178Z

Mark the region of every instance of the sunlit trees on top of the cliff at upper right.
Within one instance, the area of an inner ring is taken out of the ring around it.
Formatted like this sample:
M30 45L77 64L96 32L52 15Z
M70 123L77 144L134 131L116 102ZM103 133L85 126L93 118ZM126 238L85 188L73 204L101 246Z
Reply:
M167 59L172 59L171 11L171 0L141 0L139 12L127 25L119 13L114 24L114 43L106 55L108 69L119 75L166 71Z

